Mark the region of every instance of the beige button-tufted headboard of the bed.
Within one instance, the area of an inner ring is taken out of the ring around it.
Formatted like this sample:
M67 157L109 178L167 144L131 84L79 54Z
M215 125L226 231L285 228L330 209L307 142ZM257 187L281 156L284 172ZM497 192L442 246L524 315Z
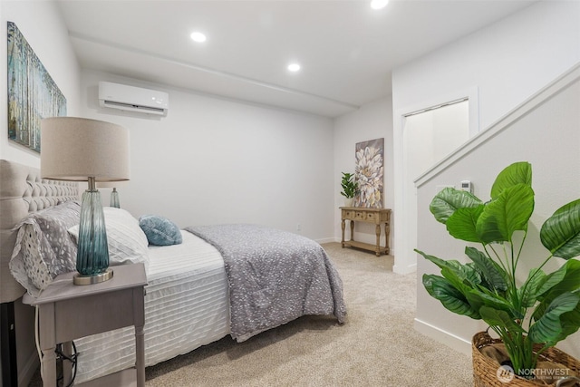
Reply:
M14 226L30 212L78 199L78 183L41 179L38 169L0 160L0 303L25 292L8 268L18 232Z

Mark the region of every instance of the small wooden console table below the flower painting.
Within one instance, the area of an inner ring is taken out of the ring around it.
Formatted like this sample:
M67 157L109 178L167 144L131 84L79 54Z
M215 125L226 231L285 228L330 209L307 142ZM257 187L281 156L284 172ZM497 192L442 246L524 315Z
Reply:
M365 250L374 251L377 256L381 254L389 254L389 234L391 233L391 226L389 220L391 218L390 208L359 208L359 207L341 207L341 228L343 229L343 237L341 244L344 247L358 247ZM351 240L344 240L344 228L346 220L351 222ZM354 240L354 222L373 223L376 225L375 231L377 235L377 242L375 245L370 243L357 242ZM384 223L385 246L381 247L381 225Z

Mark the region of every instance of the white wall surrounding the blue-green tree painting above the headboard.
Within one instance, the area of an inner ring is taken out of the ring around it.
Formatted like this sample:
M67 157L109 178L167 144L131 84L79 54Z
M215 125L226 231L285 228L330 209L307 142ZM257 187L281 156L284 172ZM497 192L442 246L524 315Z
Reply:
M80 66L73 53L68 31L63 24L58 6L48 1L0 1L0 24L6 31L6 22L14 22L24 38L33 48L34 53L43 63L44 68L53 77L66 98L67 115L79 114L80 99ZM3 36L6 36L4 34ZM0 39L0 73L7 73L6 38ZM8 141L7 88L6 76L0 77L0 158L18 161L38 168L39 154L22 145Z

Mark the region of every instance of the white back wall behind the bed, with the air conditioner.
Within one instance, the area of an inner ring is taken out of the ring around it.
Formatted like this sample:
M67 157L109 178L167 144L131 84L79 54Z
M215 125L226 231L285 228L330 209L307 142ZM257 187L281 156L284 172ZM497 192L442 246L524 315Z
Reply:
M168 116L99 107L99 81L169 92ZM82 72L82 115L129 129L131 181L119 191L136 217L155 213L179 227L258 223L333 239L330 119L92 71Z

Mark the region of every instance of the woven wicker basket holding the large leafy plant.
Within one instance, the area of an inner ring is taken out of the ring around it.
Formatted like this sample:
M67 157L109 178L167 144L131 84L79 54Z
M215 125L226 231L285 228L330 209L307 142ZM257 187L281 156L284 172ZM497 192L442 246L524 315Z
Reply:
M501 375L498 375L498 363L480 352L481 348L493 343L501 343L501 340L491 338L487 332L479 332L473 336L471 341L471 351L473 353L473 385L475 387L537 387L542 385L557 385L547 384L546 382L541 381L532 382L517 375L513 375L513 379L508 378L511 380L501 378ZM540 358L544 361L560 363L569 368L576 375L580 375L580 362L578 362L574 357L554 347L549 348L546 352L542 353ZM570 380L562 385L566 387L580 386L580 381L574 383Z

